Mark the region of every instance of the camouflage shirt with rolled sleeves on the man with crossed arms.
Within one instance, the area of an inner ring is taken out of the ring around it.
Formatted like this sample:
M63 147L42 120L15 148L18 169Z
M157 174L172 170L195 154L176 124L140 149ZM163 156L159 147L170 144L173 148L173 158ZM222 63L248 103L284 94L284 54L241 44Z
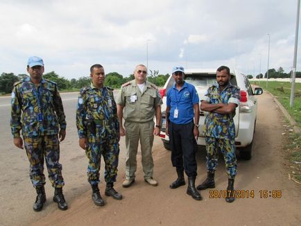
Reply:
M207 101L208 103L235 103L239 105L240 89L230 82L222 92L219 91L218 83L207 89L205 96L200 98L201 101ZM218 139L234 139L235 126L233 118L235 111L231 114L218 114L216 112L208 112L205 124L203 127L204 134L207 137L215 137Z

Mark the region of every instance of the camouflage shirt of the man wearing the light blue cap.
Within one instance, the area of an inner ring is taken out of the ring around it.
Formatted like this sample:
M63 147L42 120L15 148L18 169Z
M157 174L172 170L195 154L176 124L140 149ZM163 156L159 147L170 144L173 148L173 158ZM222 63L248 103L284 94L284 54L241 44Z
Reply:
M10 126L14 138L20 136L21 129L24 137L58 134L58 124L60 129L66 129L62 99L55 82L42 78L36 88L30 78L24 78L15 83L11 104ZM42 114L42 120L38 114Z

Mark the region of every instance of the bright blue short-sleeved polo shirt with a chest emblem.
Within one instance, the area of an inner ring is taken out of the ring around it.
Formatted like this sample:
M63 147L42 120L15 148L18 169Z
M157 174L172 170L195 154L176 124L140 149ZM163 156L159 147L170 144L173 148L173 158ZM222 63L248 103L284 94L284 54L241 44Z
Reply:
M194 117L193 105L198 102L198 92L193 85L184 82L180 91L173 85L166 96L166 105L171 107L169 120L175 124L190 123ZM175 109L178 109L178 118L174 118Z

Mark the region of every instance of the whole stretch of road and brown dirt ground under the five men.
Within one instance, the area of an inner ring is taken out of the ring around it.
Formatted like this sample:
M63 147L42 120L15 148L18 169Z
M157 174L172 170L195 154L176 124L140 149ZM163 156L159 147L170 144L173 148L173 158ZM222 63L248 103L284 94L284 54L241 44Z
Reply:
M300 187L288 180L282 153L283 125L273 98L268 94L259 96L259 116L255 132L254 155L250 161L239 160L235 188L255 191L255 198L236 199L226 203L223 198L209 198L209 191L202 191L203 200L198 202L186 194L186 186L169 189L175 179L170 152L155 139L153 154L155 178L159 186L148 186L143 181L141 166L137 180L129 189L123 189L124 140L121 139L121 158L116 188L123 193L121 201L105 198L105 207L96 207L85 171L87 159L78 148L75 129L76 96L62 95L67 114L67 139L62 143L61 162L67 182L65 194L69 203L67 211L57 210L52 202L53 189L47 181L48 200L43 211L32 210L35 191L28 179L28 160L24 151L12 146L9 132L9 106L0 106L1 175L0 175L0 225L300 225ZM4 104L1 101L1 105ZM9 101L9 100L8 100ZM268 112L268 114L267 114ZM197 182L205 179L205 153L198 152ZM216 172L216 190L222 191L227 184L225 166L220 158ZM105 184L101 183L101 192ZM260 191L282 191L282 198L260 198Z

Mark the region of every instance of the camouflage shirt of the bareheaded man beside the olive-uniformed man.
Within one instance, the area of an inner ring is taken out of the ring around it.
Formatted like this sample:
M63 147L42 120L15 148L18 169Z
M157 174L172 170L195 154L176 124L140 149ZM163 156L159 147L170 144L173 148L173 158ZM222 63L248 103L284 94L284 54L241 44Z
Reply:
M94 121L96 125L103 123L102 125L108 125L110 132L119 132L117 105L110 87L98 89L91 83L89 87L80 89L76 110L79 138L87 137L87 121Z

